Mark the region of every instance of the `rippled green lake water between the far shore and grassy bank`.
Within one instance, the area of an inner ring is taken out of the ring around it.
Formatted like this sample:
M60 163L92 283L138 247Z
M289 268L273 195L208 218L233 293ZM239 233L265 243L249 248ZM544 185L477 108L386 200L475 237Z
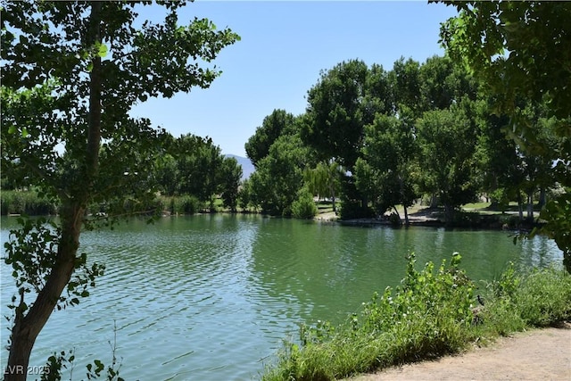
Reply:
M14 219L2 219L2 242ZM131 220L87 232L80 250L107 265L91 296L56 311L37 339L30 366L75 348L74 379L108 363L117 327L120 375L127 380L257 378L300 322L339 322L374 291L395 286L405 255L440 263L459 252L468 275L497 277L508 261L559 263L544 238L514 245L509 233L443 228L357 228L260 216ZM2 265L2 312L14 286ZM3 346L7 339L2 321ZM7 352L2 352L5 365ZM64 379L69 379L65 378Z

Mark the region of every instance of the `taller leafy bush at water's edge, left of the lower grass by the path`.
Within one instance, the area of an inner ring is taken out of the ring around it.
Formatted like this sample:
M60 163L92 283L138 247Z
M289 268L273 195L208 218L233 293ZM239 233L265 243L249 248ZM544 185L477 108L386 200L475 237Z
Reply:
M414 269L411 255L401 286L375 294L339 327L302 327L302 346L286 344L263 379L329 380L459 351L472 324L474 290L459 259L454 254L434 274L432 263Z

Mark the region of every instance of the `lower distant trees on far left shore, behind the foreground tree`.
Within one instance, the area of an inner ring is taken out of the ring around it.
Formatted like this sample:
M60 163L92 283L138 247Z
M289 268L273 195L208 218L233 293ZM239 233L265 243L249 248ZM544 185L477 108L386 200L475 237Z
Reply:
M194 214L200 211L217 211L220 206L236 211L237 195L242 167L236 158L226 157L210 138L188 134L168 137L165 153L153 162L152 171L128 172L132 186L158 189L143 203L126 201L120 206L128 212L164 212L167 214ZM21 187L21 182L2 178L2 215L54 215L59 205L40 196L37 188ZM113 205L117 208L117 205ZM110 203L88 205L89 213L107 213Z

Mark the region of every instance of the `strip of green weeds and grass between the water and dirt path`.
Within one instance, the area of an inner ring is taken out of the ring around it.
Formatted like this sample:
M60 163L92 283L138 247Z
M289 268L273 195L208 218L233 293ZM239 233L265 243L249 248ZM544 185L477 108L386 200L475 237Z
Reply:
M300 342L285 343L262 379L350 377L571 318L571 276L563 270L510 268L482 290L483 306L459 259L454 254L449 265L418 271L411 256L401 286L375 294L340 326L301 327Z

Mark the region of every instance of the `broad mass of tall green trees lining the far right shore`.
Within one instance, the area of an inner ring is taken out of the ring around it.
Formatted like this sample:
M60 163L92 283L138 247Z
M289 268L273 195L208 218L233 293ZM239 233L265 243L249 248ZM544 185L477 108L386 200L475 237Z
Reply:
M453 224L460 205L485 196L499 210L517 202L519 218L527 211L533 220L534 201L563 192L554 166L560 120L547 101L522 95L529 134L514 139L493 96L449 57L400 59L391 70L341 62L310 88L306 112L274 110L250 137L245 151L256 171L243 185L244 203L287 216L319 195L343 202L342 219L395 205L406 219L407 206L428 198ZM532 143L541 149L524 149Z

